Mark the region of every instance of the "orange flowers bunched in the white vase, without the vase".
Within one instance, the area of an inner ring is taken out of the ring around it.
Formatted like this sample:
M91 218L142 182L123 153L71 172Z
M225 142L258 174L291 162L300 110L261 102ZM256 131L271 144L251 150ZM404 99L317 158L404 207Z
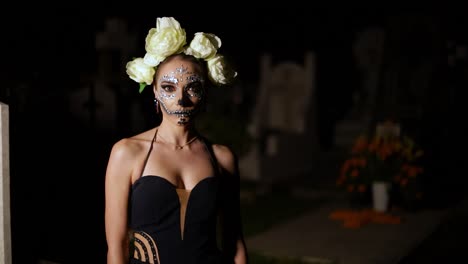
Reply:
M394 124L387 122L384 126ZM415 141L399 133L360 135L350 156L341 165L337 185L349 193L366 193L373 182L391 184L392 193L405 199L421 199L420 175L423 150ZM411 197L409 197L411 196Z

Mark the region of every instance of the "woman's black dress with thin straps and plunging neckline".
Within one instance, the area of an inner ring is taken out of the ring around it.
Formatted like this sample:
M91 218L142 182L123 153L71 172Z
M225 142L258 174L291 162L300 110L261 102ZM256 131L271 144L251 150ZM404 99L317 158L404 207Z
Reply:
M214 171L219 172L211 148L203 142L215 166ZM129 263L233 263L232 256L228 258L226 252L223 253L218 247L218 216L222 206L230 206L226 203L226 197L230 194L223 190L226 184L223 178L227 177L221 173L209 176L190 191L185 220L182 219L183 230L176 186L156 175L146 175L136 180L130 194L129 221L134 236ZM235 216L229 220L232 218ZM230 230L236 232L235 229Z

